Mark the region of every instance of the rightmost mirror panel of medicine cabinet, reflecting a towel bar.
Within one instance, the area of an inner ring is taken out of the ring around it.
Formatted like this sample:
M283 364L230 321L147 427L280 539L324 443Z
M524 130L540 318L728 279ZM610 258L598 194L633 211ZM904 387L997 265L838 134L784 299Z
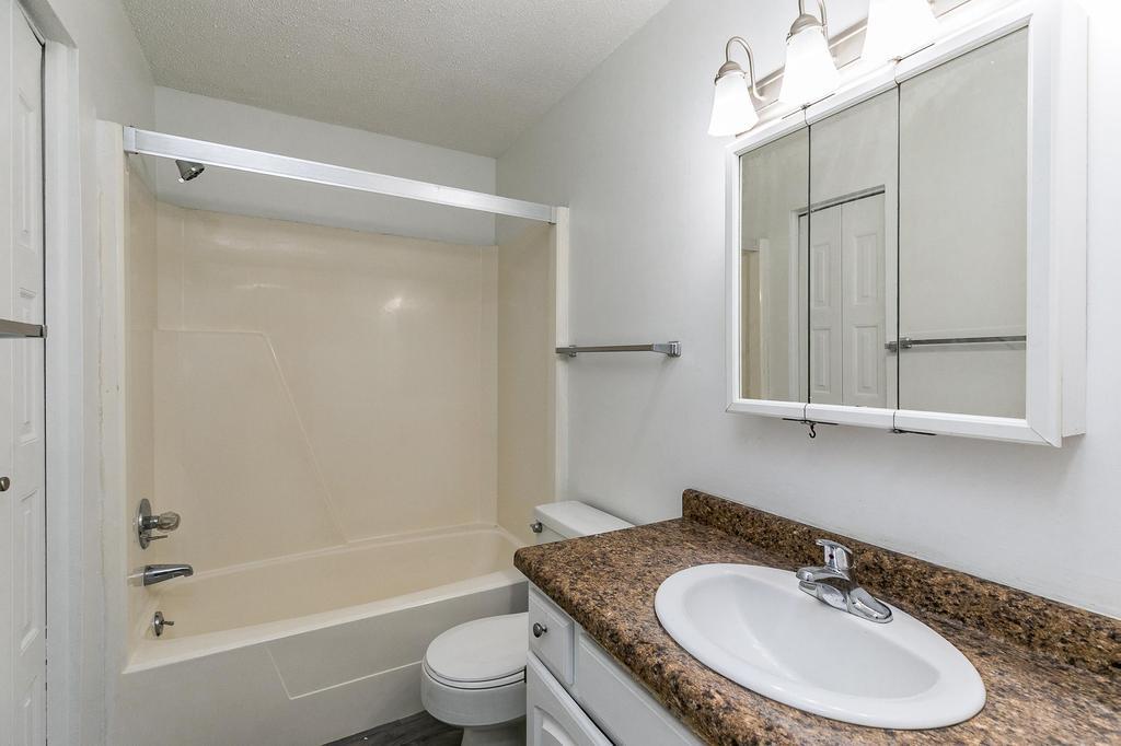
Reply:
M1028 30L899 86L899 408L1023 418Z

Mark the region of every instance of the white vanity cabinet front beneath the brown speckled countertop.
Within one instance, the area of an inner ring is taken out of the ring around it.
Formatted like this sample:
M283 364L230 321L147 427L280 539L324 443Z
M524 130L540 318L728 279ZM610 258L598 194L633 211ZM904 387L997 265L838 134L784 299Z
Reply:
M528 625L526 727L530 746L702 743L532 586Z

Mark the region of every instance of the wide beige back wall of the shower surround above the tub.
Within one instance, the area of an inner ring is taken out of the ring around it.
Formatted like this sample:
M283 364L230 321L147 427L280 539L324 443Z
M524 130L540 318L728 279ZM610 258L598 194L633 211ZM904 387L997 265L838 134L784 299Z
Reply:
M210 570L495 521L493 246L163 203L157 223L155 493L183 514L161 554Z

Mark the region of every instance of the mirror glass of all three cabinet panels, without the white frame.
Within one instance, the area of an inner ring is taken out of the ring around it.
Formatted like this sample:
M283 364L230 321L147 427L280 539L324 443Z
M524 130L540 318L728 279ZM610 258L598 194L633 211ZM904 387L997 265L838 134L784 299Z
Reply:
M1021 29L740 155L740 398L1026 417L1028 74Z

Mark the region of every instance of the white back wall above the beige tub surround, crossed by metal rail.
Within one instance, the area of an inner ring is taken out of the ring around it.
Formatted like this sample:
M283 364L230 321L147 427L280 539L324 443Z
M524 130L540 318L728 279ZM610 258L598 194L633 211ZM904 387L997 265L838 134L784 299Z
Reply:
M493 194L493 158L156 88L156 129L223 144ZM494 216L470 209L211 168L186 184L155 166L159 198L184 207L487 245Z

